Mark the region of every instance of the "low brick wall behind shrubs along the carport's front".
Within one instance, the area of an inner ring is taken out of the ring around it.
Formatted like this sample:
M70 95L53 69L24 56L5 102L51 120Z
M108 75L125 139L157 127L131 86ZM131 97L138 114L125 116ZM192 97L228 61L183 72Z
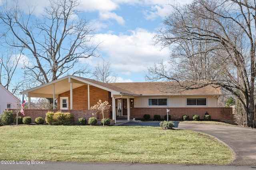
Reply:
M24 109L25 115L22 115L22 113L19 113L18 115L21 117L25 117L25 116L31 117L32 123L35 123L36 117L42 117L45 122L46 113L48 111L56 112L58 110ZM96 111L92 111L92 110L60 110L60 111L72 113L75 118L74 124L78 124L78 119L81 117L86 118L87 124L88 124L88 120L90 117L96 117L98 119L98 124L101 125L100 121L102 119L102 114L95 114ZM112 119L112 117L107 116L110 114L109 112L110 111L108 111L108 113L107 112L104 113L104 118ZM93 115L93 113L94 113L94 115ZM16 117L16 114L14 114L14 117ZM110 120L110 121L111 121L111 125L114 125L114 120Z

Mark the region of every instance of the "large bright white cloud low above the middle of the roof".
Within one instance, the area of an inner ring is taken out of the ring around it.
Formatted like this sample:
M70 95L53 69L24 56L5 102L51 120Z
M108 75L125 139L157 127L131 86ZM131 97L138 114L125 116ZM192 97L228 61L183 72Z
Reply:
M160 51L159 46L153 45L152 38L155 33L141 28L130 33L96 35L102 42L100 51L104 51L103 57L107 57L117 74L130 75L132 72L142 72L154 62L167 60L169 50Z

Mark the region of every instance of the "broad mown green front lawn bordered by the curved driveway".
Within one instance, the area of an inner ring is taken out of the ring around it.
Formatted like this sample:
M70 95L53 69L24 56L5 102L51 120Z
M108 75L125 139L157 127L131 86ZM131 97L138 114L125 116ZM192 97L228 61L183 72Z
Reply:
M234 153L202 133L160 127L0 127L0 160L228 164Z

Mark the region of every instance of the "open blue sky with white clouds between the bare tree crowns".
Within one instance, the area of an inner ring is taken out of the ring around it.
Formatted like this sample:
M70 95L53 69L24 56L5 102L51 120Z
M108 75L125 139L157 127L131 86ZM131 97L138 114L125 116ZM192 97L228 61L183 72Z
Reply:
M47 0L19 2L24 8L26 4L36 4L38 14L48 5ZM191 0L178 2L186 4ZM168 59L169 49L160 51L159 46L153 45L153 37L170 14L171 3L174 0L81 0L80 10L101 42L98 53L110 62L118 82L144 82L147 67ZM98 60L90 58L86 62L94 66Z

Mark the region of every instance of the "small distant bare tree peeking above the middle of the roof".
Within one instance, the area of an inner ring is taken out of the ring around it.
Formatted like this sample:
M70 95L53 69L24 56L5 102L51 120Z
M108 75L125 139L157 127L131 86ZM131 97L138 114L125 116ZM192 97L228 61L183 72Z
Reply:
M110 63L105 59L94 67L93 77L95 80L104 83L114 83L116 82L117 75L111 70Z

